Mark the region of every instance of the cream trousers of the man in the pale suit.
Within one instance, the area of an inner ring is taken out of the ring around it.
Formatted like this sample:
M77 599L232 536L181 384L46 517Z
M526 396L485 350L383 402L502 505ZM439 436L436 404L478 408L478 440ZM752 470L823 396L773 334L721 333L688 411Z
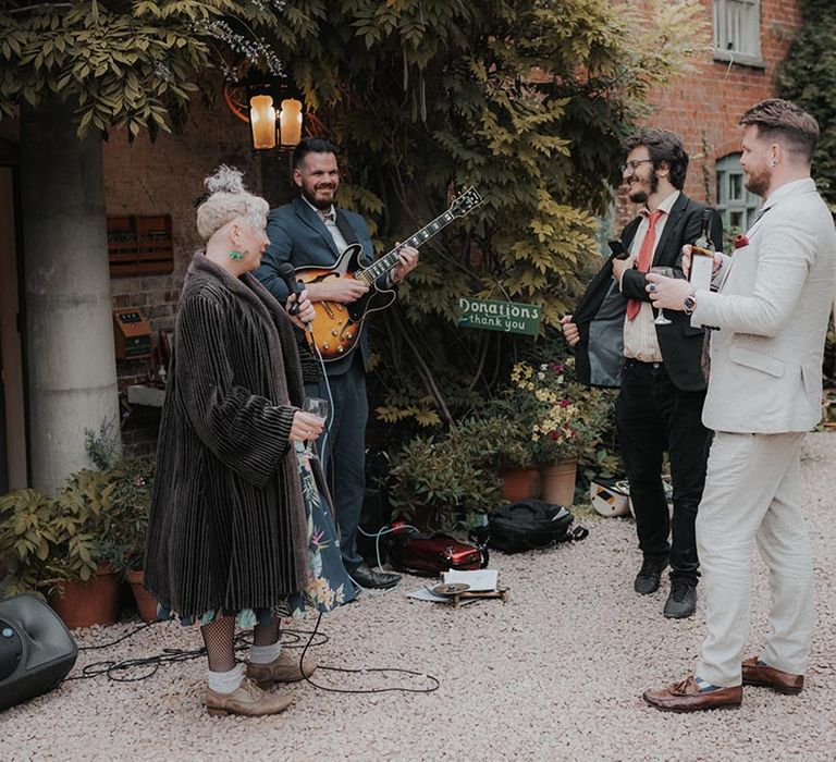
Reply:
M794 675L807 669L813 623L813 565L800 509L803 433L717 432L697 512L709 634L698 677L740 685L749 639L755 542L769 568L772 606L761 659Z

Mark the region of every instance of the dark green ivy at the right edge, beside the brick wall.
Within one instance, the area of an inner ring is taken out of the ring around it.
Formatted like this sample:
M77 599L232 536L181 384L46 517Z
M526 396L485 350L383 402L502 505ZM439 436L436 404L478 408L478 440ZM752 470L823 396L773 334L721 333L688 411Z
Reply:
M800 0L802 25L777 74L783 98L796 101L819 122L813 176L836 211L836 5Z

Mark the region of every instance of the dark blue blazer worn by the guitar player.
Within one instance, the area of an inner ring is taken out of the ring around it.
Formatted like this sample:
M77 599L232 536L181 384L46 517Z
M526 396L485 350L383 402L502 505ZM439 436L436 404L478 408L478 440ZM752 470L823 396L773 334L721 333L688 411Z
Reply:
M355 234L357 243L362 245L364 265L370 265L373 247L369 237L366 220L353 211L342 211ZM276 268L283 262L293 267L333 267L340 251L325 223L302 197L297 196L291 204L272 209L267 218L267 237L270 245L261 258L261 267L255 271L256 278L267 286L270 293L284 305L288 291L285 282L276 273ZM348 243L353 243L348 241ZM325 364L329 376L340 376L348 370L354 354L362 355L364 365L369 358L368 327L360 334L360 345L345 358Z

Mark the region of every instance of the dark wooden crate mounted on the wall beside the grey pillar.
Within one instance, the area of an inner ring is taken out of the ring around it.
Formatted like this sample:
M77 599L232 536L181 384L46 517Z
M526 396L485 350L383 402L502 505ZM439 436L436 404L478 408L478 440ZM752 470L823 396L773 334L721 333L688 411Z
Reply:
M108 217L108 259L111 278L172 272L171 216Z

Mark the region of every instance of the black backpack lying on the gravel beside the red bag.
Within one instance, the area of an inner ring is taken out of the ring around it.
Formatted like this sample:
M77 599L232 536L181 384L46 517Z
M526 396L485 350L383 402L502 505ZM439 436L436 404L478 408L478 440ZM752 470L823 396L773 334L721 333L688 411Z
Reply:
M582 540L589 530L575 527L575 517L563 505L542 500L525 500L496 508L490 517L488 544L505 553L520 553L548 548L555 542Z

